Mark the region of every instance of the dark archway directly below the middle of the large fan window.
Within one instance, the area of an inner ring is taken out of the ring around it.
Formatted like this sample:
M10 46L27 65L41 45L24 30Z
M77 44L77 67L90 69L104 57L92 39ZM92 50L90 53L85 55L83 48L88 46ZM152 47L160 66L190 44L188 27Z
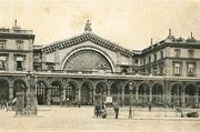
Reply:
M91 82L83 82L81 87L81 104L89 105L92 104L92 83Z

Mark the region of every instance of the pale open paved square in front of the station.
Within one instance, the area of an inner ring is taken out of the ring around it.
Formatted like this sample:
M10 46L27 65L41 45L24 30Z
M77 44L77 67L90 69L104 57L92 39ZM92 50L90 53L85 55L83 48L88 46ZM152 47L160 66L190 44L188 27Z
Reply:
M111 110L111 109L110 109ZM0 110L0 132L199 132L200 119L158 119L157 112L141 109L128 119L128 108L123 108L116 120L108 110L107 119L93 116L93 108L39 106L38 116L14 116L14 112ZM160 112L161 115L163 112ZM173 112L169 112L168 115ZM163 114L166 115L166 114ZM148 118L144 118L148 116ZM156 116L156 118L154 118ZM164 118L164 116L163 116Z

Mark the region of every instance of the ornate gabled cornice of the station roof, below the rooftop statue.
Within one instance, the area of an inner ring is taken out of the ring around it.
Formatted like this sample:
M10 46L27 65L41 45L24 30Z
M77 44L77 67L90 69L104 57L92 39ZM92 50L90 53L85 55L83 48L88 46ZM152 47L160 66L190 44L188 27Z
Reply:
M122 47L120 47L113 42L110 42L106 39L102 39L92 32L84 32L84 33L77 35L77 37L73 37L71 39L54 42L50 45L42 48L41 51L43 53L51 53L51 52L54 52L57 49L59 49L59 50L66 49L66 48L77 45L77 44L86 42L86 41L91 41L91 42L93 42L100 47L107 48L107 49L114 51L114 52L119 52L124 57L132 57L133 55L133 53L131 51L129 51L129 50L127 50L127 49L124 49L124 48L122 48Z

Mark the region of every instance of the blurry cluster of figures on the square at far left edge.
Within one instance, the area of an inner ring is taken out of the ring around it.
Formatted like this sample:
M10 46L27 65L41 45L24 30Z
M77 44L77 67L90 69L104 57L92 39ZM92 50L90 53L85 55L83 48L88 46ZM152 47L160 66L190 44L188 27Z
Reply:
M11 110L14 110L16 106L17 106L17 98L14 98L12 100L2 99L0 101L1 110L11 111Z

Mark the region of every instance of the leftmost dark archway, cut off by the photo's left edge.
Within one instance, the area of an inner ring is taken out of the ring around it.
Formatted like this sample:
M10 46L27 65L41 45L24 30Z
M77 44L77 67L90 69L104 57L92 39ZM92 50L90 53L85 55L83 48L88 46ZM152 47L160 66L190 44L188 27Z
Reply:
M0 101L9 100L9 82L4 79L0 79Z

